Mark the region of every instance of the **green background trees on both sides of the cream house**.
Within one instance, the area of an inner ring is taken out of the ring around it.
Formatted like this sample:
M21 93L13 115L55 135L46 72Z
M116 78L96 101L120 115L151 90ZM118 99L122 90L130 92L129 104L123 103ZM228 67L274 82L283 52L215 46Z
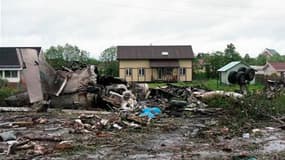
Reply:
M119 63L117 61L117 48L111 46L105 49L99 56L99 59L91 58L90 52L80 49L76 45L65 44L63 46L51 46L45 52L45 57L55 69L62 69L62 67L72 68L73 63L93 64L99 69L103 75L111 75L117 77L119 74ZM203 64L200 64L200 61ZM259 54L257 57L250 57L245 54L244 57L237 52L234 44L230 43L226 46L224 51L216 51L212 53L200 53L193 60L194 77L203 75L205 78L216 78L217 70L222 66L232 61L242 61L249 65L264 65L266 61L271 62L285 62L285 56L274 54L267 57L264 54ZM203 72L199 70L200 67L205 68ZM196 75L195 75L196 74Z

